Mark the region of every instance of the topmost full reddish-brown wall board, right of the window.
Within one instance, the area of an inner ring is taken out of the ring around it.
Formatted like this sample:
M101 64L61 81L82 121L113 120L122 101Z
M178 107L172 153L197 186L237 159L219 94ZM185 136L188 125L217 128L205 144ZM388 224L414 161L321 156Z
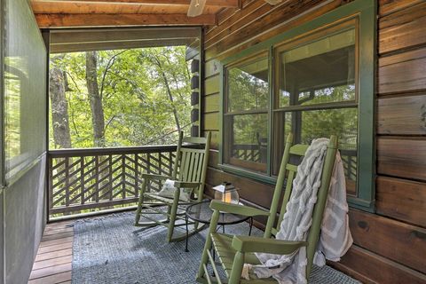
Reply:
M381 54L426 43L426 2L383 17L379 28Z

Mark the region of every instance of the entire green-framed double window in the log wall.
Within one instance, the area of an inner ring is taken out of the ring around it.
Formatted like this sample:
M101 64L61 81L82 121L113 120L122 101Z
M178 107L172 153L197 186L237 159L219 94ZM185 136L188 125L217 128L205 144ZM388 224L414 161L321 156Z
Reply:
M354 1L223 61L224 170L273 183L288 133L337 135L353 207L374 210L375 5Z

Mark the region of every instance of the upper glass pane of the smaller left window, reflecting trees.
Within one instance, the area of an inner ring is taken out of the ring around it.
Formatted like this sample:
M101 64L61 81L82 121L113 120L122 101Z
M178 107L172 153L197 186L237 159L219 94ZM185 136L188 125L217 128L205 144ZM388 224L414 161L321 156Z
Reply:
M268 59L258 59L227 70L227 111L265 109L268 106Z

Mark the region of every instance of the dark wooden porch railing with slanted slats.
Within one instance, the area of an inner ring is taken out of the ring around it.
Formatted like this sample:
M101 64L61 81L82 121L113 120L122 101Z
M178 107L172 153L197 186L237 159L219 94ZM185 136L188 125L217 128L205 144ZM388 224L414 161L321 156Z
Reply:
M50 217L135 204L141 174L171 175L175 152L176 146L51 150ZM153 182L148 190L160 186Z

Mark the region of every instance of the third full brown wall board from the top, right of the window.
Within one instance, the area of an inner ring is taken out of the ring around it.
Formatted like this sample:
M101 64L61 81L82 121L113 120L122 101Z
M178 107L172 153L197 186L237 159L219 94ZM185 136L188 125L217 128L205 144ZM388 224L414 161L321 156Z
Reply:
M377 133L426 135L426 94L377 101Z

